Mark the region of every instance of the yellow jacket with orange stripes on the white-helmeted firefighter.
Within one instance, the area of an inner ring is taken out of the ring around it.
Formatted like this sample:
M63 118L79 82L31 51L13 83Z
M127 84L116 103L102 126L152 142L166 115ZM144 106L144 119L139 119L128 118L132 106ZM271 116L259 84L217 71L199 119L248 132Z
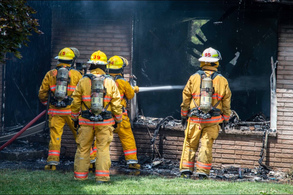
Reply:
M217 71L217 68L212 66L204 66L202 69L204 70L207 76L211 76L213 71ZM213 71L210 71L213 70ZM194 74L190 76L187 84L183 90L183 102L181 104L181 117L185 118L187 116L188 110L192 110L196 106L192 98L194 98L197 106L200 105L200 84L201 84L201 76L199 74ZM213 87L215 89L212 96L212 106L215 105L218 101L220 101L219 105L216 107L221 110L220 116L213 116L210 119L200 119L197 116L192 116L190 118L191 123L220 123L223 120L229 121L231 109L231 91L228 85L228 81L221 75L218 75L213 80Z

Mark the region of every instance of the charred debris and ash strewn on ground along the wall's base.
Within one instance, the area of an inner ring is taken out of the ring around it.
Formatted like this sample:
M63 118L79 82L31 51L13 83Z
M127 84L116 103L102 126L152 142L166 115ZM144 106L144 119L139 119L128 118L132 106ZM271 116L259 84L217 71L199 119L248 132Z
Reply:
M24 161L8 161L0 160L1 169L27 169L31 171L44 170L46 158L24 160ZM179 161L164 160L164 164L160 158L153 161L150 156L138 156L140 170L129 169L126 165L124 157L119 161L112 161L110 168L111 175L129 175L129 176L160 176L165 178L179 177ZM60 164L56 169L60 172L73 172L74 159L60 158ZM93 173L95 173L93 171ZM288 178L288 173L266 171L263 168L239 168L233 167L216 169L212 168L209 179L224 181L258 181L258 182L275 182L275 183L292 183L292 179ZM198 179L197 175L192 175L191 179Z

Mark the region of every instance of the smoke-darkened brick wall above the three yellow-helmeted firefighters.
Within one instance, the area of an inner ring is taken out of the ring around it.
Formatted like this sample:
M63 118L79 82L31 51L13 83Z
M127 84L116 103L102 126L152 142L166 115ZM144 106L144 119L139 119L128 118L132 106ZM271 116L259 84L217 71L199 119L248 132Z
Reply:
M129 65L125 67L125 77L131 73L132 16L123 18L66 19L55 10L52 13L51 68L56 67L54 59L66 47L77 48L80 56L75 62L87 62L95 51L103 51L107 58L120 55ZM68 16L67 16L68 17ZM87 16L85 16L86 18Z

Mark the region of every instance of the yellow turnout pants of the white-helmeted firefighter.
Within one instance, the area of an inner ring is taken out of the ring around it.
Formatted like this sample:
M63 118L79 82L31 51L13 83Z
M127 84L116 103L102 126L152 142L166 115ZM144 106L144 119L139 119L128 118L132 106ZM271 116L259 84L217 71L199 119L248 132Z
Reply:
M201 139L201 148L196 161L196 173L209 176L213 159L213 142L218 137L219 129L218 123L190 123L180 172L189 171L191 174L194 172L195 153Z

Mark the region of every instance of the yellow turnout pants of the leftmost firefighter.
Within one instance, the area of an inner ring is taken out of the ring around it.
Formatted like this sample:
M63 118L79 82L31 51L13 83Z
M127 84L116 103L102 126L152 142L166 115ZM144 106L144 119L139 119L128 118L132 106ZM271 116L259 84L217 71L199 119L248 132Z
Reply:
M67 123L72 131L74 139L76 140L76 129L74 128L74 122L71 120L71 116L52 116L49 115L49 128L50 128L50 142L49 142L49 154L47 158L47 164L59 164L60 148L61 148L61 136L63 133L63 126Z

